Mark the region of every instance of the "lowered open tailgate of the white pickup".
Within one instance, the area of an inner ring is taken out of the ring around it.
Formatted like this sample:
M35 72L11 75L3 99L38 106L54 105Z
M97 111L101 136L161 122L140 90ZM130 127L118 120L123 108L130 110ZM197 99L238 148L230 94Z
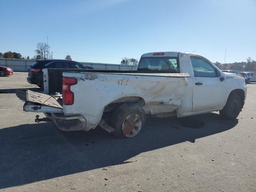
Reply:
M17 90L16 95L21 100L26 101L23 106L23 110L26 112L62 112L61 102L58 102L54 96L30 90Z

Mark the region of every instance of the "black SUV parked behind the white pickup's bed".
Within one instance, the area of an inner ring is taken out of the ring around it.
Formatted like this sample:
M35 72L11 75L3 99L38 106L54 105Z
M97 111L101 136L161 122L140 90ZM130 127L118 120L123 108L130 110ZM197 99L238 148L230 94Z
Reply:
M78 62L71 60L60 59L40 59L28 68L27 81L30 84L38 85L42 88L42 69L44 68L60 68L60 69L94 69L89 66L84 66Z

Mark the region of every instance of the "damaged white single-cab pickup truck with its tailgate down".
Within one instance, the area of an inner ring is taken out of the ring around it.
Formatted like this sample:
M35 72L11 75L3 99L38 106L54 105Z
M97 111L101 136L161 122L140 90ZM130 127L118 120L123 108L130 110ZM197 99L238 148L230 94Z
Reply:
M50 70L44 70L46 93L54 84L49 79L57 76ZM117 138L136 136L146 116L179 118L219 111L222 117L235 119L247 90L242 76L222 72L203 56L185 52L143 54L136 71L61 74L62 97L18 92L26 101L24 111L44 112L60 130L89 131L99 125Z

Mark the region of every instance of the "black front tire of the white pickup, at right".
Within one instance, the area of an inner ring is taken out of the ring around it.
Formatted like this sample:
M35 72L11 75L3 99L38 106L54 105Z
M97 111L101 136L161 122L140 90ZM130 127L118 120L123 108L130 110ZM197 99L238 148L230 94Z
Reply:
M220 116L224 119L234 120L242 109L241 98L237 94L228 97L225 107L220 110Z

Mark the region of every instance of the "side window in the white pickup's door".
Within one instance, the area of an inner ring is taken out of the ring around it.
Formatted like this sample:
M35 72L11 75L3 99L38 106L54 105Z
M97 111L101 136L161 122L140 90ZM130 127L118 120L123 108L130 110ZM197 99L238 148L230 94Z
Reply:
M216 69L208 61L200 57L191 56L191 63L195 77L217 77Z

